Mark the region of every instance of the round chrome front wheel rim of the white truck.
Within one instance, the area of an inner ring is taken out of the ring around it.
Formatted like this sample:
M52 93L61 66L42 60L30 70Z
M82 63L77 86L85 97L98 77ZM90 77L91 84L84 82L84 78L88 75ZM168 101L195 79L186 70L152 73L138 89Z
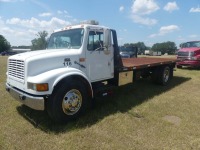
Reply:
M76 114L82 105L82 96L80 91L72 89L67 92L63 97L62 109L63 112L67 115Z

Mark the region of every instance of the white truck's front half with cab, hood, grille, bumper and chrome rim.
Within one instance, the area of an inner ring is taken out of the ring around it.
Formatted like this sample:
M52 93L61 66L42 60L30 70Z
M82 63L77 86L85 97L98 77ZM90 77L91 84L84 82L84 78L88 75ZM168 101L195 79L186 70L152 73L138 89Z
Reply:
M50 36L45 50L10 56L6 89L25 105L44 110L47 106L45 101L50 101L49 97L58 86L63 86L64 82L79 82L78 88L81 90L72 90L68 94L66 92L69 91L66 91L61 98L61 101L66 97L71 98L62 102L65 103L62 104L62 109L66 109L65 114L71 115L81 108L81 92L93 97L92 82L113 77L111 31L90 21L56 30ZM82 87L84 84L87 86ZM86 87L87 90L84 89Z

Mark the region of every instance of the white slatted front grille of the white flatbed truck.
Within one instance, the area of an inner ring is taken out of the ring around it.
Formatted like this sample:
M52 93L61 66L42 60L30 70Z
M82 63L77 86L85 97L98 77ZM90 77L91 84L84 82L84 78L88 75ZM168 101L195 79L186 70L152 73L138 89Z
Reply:
M8 62L8 75L24 80L24 61L10 59Z

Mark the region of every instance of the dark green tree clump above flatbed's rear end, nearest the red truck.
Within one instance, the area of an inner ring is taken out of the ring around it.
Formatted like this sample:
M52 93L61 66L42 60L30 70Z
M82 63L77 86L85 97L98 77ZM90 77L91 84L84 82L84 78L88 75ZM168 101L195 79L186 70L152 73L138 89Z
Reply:
M163 42L163 43L156 43L151 48L154 52L161 52L162 54L175 54L177 50L176 44L174 42Z

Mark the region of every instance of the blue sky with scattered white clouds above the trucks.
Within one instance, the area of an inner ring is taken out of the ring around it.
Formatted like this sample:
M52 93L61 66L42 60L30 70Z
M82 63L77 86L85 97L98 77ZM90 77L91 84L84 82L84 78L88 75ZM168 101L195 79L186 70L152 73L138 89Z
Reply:
M0 34L12 46L91 19L117 30L120 45L200 40L200 0L0 0Z

